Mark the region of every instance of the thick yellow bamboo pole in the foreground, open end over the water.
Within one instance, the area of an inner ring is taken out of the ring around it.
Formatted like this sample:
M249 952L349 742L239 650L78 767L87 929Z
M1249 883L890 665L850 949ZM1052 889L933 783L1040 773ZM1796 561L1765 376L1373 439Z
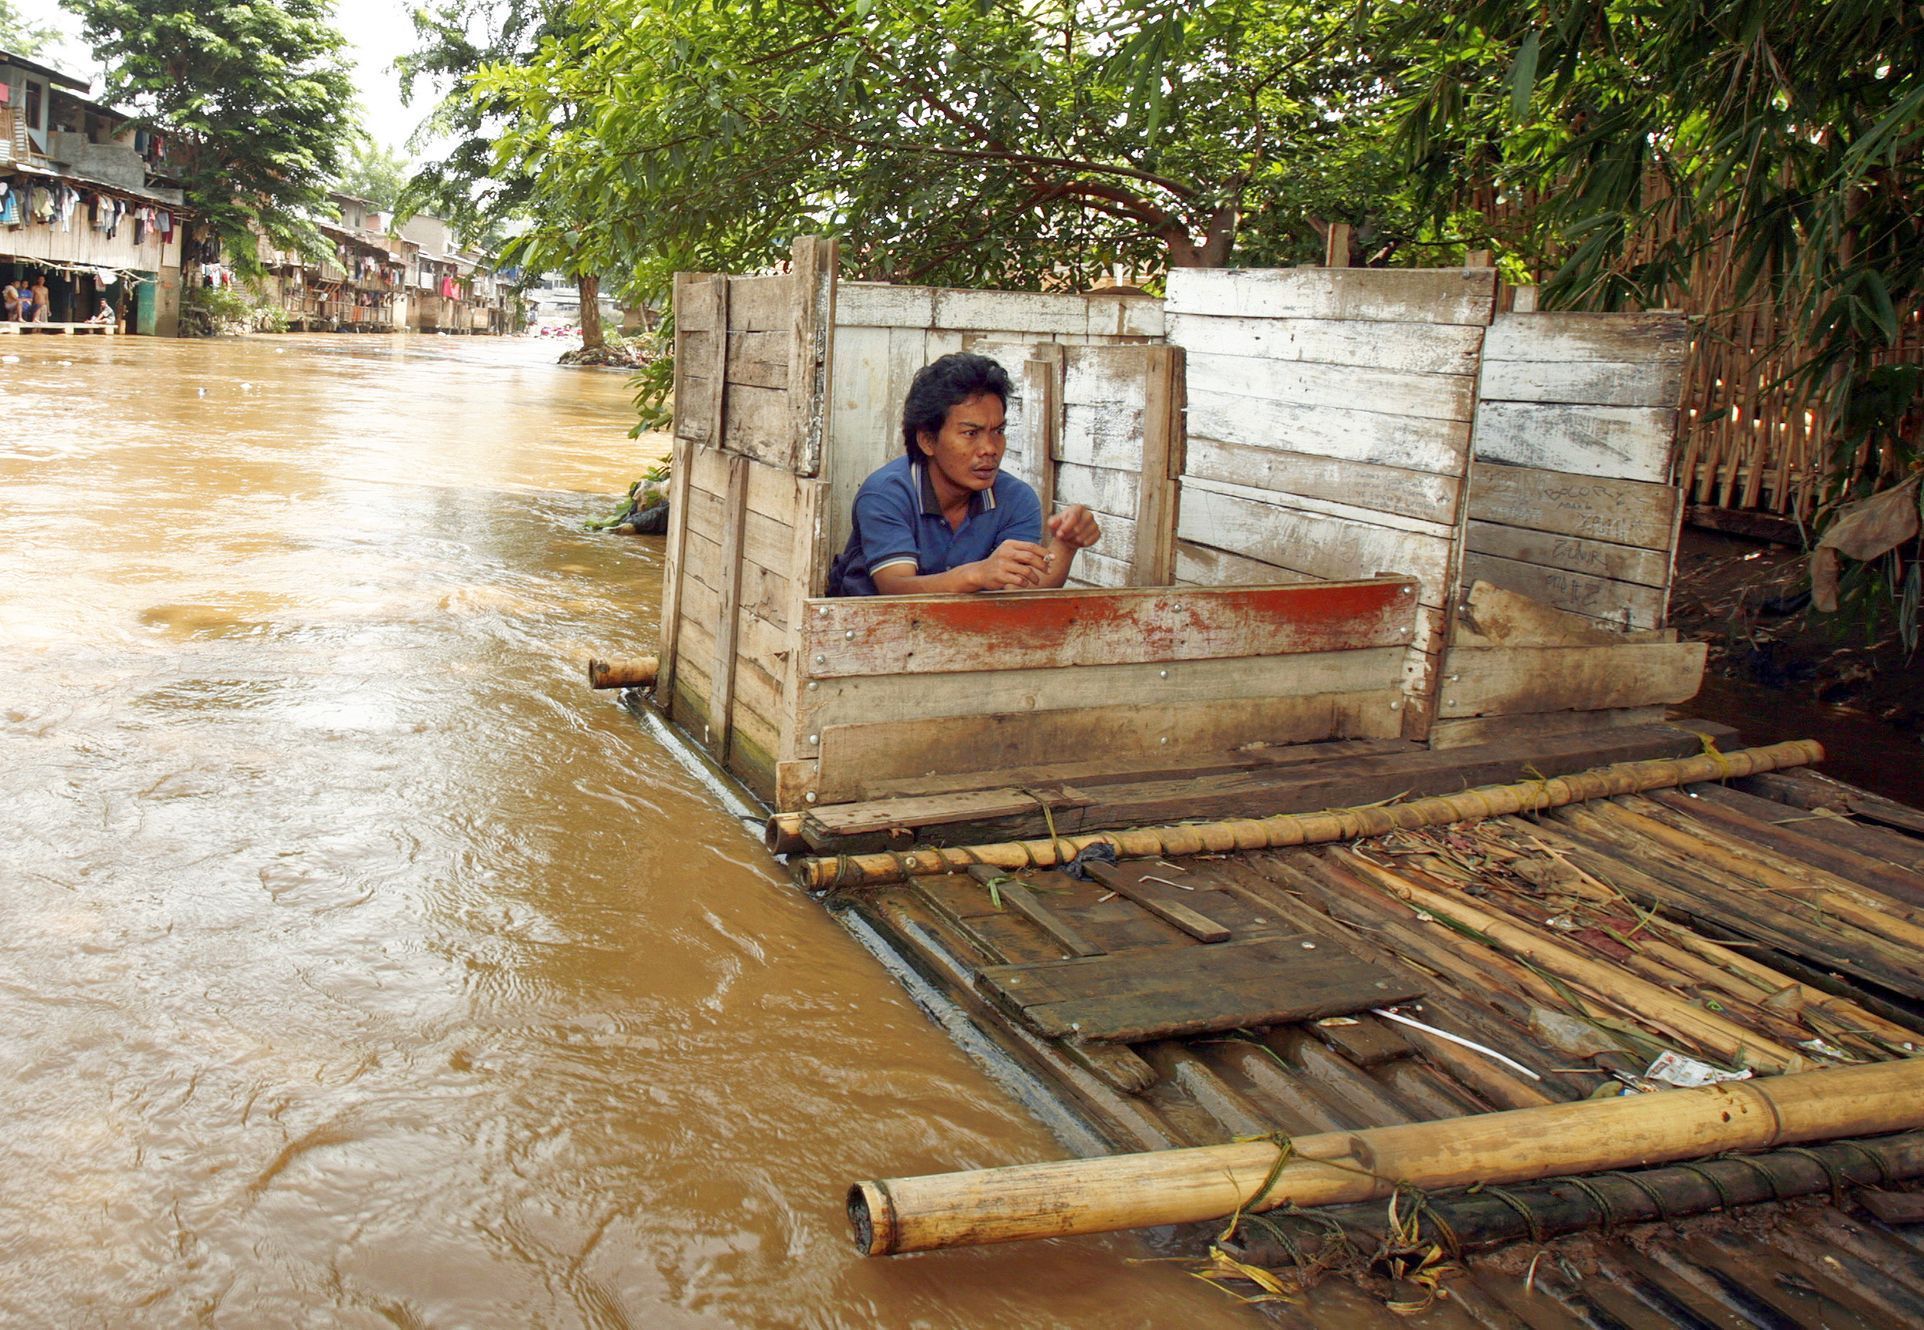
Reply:
M858 1182L864 1255L1195 1224L1924 1128L1924 1059L1366 1132Z

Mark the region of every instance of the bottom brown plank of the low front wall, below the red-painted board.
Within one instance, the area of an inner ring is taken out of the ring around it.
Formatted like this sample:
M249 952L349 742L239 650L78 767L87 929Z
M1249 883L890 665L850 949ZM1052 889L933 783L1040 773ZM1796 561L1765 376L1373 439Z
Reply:
M1145 710L1077 706L937 720L823 726L816 774L820 803L875 799L889 781L943 772L1035 766L1077 753L1108 753L1118 764L1226 755L1247 743L1389 739L1401 706L1383 689L1181 703ZM931 747L941 733L943 749ZM983 783L1006 783L985 780Z

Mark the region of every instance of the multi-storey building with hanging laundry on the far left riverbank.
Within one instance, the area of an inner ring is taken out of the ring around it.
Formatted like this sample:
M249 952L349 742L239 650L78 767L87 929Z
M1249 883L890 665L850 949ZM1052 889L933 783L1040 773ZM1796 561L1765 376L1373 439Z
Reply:
M81 323L104 298L125 331L171 337L192 239L167 139L87 90L0 50L0 279L46 277L52 321Z

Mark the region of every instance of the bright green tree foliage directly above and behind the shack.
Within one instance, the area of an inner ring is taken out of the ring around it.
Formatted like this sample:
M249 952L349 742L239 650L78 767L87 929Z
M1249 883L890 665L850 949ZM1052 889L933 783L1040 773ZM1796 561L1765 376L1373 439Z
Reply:
M1356 15L1193 10L581 0L473 94L510 112L496 162L554 244L631 291L804 229L856 275L1027 285L1289 262L1370 221L1395 162Z

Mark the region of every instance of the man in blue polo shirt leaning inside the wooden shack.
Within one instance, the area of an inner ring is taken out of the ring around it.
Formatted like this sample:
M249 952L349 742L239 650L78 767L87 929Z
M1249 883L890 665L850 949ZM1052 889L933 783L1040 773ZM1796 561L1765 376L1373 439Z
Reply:
M1043 520L1020 477L1002 473L1008 373L987 356L924 366L902 406L902 452L854 497L848 547L829 595L929 595L1060 587L1076 550L1102 535L1076 504Z

